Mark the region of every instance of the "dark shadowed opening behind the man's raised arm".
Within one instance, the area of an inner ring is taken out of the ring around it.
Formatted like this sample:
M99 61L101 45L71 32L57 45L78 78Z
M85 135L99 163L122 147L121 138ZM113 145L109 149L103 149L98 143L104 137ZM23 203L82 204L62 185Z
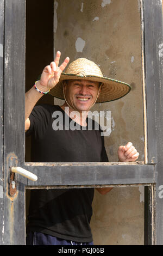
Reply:
M26 1L26 92L53 61L53 0ZM37 103L53 104L51 95ZM30 137L26 138L26 162L30 162Z

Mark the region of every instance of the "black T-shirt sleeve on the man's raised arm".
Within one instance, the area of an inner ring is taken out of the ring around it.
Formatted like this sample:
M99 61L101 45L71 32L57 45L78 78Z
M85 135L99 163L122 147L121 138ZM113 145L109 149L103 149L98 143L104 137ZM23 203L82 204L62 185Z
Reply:
M50 105L36 105L29 115L30 127L26 136L34 135L36 139L41 139L45 134L51 120Z

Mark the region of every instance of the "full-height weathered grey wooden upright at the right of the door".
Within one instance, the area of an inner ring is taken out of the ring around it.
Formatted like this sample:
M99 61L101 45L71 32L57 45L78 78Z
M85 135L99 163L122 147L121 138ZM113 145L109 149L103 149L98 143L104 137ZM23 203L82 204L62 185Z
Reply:
M163 185L163 41L162 1L144 0L145 19L145 66L148 124L148 161L155 162L156 196L148 199L148 206L156 200L155 216L157 245L163 244L163 199L160 188ZM149 217L148 224L151 222ZM154 227L152 227L154 230ZM151 233L152 234L152 233ZM151 237L152 240L152 237Z

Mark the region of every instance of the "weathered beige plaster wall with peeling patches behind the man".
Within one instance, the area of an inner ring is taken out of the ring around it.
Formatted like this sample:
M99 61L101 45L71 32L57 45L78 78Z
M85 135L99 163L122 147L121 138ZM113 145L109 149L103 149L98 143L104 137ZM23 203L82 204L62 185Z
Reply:
M119 145L129 141L143 161L139 0L54 1L54 52L58 50L61 61L85 57L103 75L131 84L127 96L93 109L111 111L111 133L105 137L109 161L117 161ZM143 187L117 187L105 196L96 192L91 227L97 245L143 244Z

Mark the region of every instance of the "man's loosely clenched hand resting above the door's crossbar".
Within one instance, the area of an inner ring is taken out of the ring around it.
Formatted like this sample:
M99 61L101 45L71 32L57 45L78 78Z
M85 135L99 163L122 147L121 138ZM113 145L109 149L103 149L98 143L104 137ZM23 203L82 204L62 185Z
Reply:
M120 162L134 162L138 157L139 153L131 142L118 148L118 159Z

